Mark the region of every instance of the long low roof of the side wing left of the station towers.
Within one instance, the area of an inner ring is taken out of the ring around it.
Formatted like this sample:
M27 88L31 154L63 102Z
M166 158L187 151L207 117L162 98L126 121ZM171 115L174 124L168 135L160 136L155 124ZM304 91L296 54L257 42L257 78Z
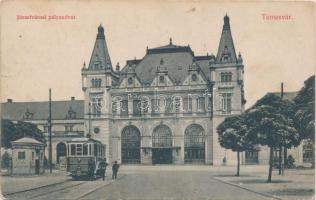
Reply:
M70 116L73 113L74 115ZM6 102L1 104L1 117L9 120L47 120L49 102ZM52 119L83 119L84 101L52 101Z

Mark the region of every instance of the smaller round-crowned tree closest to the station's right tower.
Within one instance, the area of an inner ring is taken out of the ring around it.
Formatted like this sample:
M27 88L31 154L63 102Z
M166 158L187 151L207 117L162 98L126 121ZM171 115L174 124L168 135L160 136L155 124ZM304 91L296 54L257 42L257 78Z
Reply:
M254 149L254 146L247 140L247 125L245 115L227 117L217 127L218 141L226 149L237 152L237 174L240 171L240 152Z

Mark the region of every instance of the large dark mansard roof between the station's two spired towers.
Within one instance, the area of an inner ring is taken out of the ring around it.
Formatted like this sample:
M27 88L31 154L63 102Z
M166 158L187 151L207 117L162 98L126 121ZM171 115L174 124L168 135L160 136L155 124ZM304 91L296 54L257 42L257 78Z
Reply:
M211 56L194 56L190 46L179 46L169 43L152 49L147 49L142 59L128 60L127 65L122 69L126 73L130 65L135 65L136 76L141 83L149 84L156 77L157 67L163 65L173 82L183 82L190 65L194 60L199 65L205 77L208 74L209 60Z

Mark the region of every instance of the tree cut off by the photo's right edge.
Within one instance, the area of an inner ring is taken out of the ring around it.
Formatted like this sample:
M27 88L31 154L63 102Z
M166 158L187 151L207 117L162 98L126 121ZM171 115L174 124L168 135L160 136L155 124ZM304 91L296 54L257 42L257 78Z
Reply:
M298 92L294 98L294 102L295 127L301 139L312 141L313 154L315 154L315 76L309 77L304 82L304 87ZM313 159L313 167L315 165L314 162Z

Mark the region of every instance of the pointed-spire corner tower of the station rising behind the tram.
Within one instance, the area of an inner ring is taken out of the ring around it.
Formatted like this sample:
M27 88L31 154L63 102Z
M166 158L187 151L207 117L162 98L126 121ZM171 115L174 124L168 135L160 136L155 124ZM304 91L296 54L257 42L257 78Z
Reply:
M116 80L106 45L104 28L100 25L90 62L81 70L84 92L85 135L106 145L106 158L110 156L111 87Z

